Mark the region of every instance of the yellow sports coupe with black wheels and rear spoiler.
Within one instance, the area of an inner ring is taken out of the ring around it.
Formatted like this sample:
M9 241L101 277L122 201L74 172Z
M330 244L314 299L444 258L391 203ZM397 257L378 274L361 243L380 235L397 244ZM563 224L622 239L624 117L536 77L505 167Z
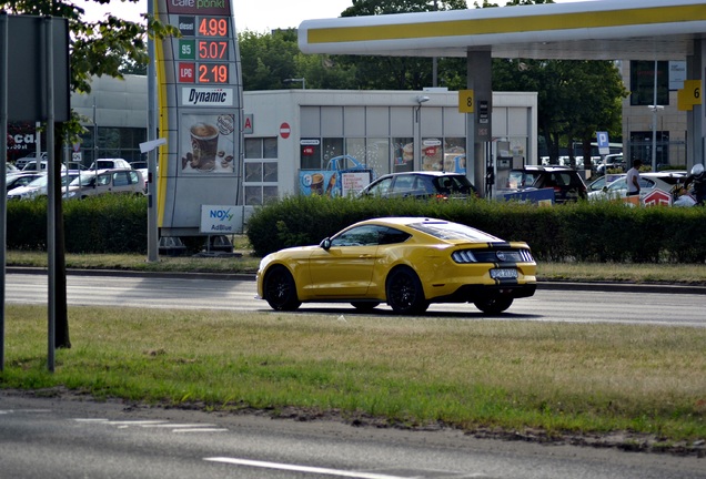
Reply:
M420 314L431 303L473 303L500 314L534 294L535 274L526 243L443 220L384 217L355 223L319 246L263 257L258 295L275 310L342 302Z

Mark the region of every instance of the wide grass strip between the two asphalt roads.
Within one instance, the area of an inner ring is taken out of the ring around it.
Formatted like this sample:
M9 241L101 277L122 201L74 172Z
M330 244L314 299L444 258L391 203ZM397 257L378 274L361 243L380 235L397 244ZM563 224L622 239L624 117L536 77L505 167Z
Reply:
M706 438L706 329L71 307L47 370L46 307L7 306L0 387L240 410L297 408L546 435Z

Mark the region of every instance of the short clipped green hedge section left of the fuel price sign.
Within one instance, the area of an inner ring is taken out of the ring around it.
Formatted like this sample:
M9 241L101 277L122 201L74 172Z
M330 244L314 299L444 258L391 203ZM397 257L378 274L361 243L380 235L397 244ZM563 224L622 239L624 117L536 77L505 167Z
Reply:
M147 197L64 201L68 253L147 253ZM47 249L47 198L8 202L8 249Z

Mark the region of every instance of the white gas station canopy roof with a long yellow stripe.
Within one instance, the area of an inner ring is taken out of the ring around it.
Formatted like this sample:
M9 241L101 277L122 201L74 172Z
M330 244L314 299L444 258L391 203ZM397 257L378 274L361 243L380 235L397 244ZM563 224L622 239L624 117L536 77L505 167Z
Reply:
M703 0L597 0L305 20L304 53L546 60L684 60L706 38Z

